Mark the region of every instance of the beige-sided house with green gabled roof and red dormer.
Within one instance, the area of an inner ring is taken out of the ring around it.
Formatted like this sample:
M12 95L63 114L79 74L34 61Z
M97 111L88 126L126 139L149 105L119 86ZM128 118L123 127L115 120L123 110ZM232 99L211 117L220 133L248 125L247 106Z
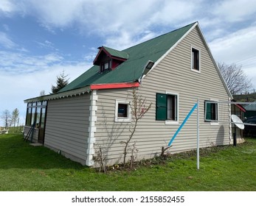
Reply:
M131 92L151 102L132 143L136 160L161 153L200 99L200 147L232 142L230 108L213 101L232 95L198 22L118 51L99 47L94 65L56 94L27 99L24 135L66 157L94 166L102 149L106 164L122 163L131 120ZM33 124L34 123L34 124ZM31 127L33 124L34 127ZM173 141L171 153L196 149L196 115Z

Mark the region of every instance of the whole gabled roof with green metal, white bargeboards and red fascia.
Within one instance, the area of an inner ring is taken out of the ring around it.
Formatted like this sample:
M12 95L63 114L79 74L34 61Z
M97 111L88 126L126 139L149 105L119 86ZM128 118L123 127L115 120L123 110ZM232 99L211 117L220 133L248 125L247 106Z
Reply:
M145 65L152 61L154 63L154 68L196 26L198 26L198 31L200 32L201 38L210 54L212 62L218 71L224 88L226 88L226 92L232 99L232 94L227 88L226 82L218 69L218 65L215 63L215 60L212 57L212 53L210 52L210 48L207 45L198 22L195 22L122 51L102 46L100 47L100 51L104 51L105 54L108 54L108 56L124 59L125 62L118 65L114 70L106 70L102 73L100 73L100 65L93 65L88 71L84 72L80 75L80 77L77 77L77 79L70 82L69 85L66 85L66 87L61 89L57 94L27 99L24 102L59 99L66 96L80 95L81 93L86 93L90 90L100 88L138 87L139 79L145 77L143 76L145 72ZM100 55L100 51L98 52L97 57ZM97 57L95 60L97 60ZM151 68L149 72L151 72L153 68Z

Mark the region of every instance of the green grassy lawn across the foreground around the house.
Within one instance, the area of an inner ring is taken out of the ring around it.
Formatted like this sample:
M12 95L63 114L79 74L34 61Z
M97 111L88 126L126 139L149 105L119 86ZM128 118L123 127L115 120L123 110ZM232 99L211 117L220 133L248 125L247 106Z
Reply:
M103 174L21 135L0 135L0 191L256 191L256 139L212 149L199 171L190 154Z

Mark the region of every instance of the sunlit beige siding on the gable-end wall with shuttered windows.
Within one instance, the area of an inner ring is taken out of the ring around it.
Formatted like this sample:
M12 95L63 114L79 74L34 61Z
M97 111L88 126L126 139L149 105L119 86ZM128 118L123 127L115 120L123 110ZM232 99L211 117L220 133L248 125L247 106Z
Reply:
M200 73L191 71L191 46L201 52ZM156 93L179 94L179 125L156 121ZM170 54L148 73L142 80L139 93L147 102L152 102L151 110L139 121L131 144L136 142L137 160L159 155L162 146L167 146L170 138L190 112L197 99L200 99L200 146L229 144L229 124L212 125L204 121L204 100L228 101L228 94L218 76L197 27L176 46ZM131 123L115 122L114 110L116 100L130 100L131 89L97 91L97 132L94 148L99 146L107 154L108 164L122 162L124 146L120 141L127 141ZM228 105L219 105L221 120L229 121ZM182 152L196 149L196 110L187 124L173 141L170 152ZM128 158L130 155L128 154Z

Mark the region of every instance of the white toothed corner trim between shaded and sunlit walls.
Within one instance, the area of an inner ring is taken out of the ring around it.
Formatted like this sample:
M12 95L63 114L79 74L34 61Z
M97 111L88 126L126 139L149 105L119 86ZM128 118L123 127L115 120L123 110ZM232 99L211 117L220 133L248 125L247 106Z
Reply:
M95 122L97 121L96 111L97 111L97 90L91 90L91 96L90 96L90 116L89 116L89 136L87 140L87 150L86 150L86 166L94 166L94 133L96 132Z

